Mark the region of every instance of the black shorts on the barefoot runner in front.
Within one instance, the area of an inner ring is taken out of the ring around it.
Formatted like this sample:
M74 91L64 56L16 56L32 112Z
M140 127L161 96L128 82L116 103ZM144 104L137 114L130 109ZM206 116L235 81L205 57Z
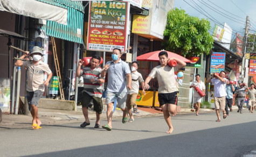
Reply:
M168 103L177 105L177 91L170 93L158 93L158 102L160 106Z

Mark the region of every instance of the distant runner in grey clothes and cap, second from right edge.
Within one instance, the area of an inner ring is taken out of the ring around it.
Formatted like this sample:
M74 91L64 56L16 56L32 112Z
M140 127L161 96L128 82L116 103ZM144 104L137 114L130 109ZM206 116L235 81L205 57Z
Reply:
M242 113L243 110L243 106L245 103L245 90L247 88L247 85L245 83L242 83L241 80L238 80L238 84L239 87L237 87L237 92L236 92L236 96L238 96L237 98L237 106L238 106L238 110L237 112L240 111L240 113Z

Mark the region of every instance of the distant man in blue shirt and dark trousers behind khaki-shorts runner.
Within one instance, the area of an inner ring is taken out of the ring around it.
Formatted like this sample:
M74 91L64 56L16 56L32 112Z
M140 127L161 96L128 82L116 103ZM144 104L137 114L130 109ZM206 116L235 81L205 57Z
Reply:
M227 85L226 85L226 106L225 106L225 111L227 113L227 116L229 116L229 110L227 109L228 107L230 108L230 112L232 112L232 104L233 104L233 92L234 92L234 85L230 83L230 79L227 79Z

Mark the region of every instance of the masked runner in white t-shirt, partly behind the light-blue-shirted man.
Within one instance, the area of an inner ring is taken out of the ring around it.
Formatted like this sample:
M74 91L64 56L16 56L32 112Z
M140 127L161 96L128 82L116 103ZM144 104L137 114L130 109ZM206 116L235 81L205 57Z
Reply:
M128 93L127 93L127 99L126 99L126 108L130 116L130 119L128 120L128 122L134 121L132 106L134 109L134 113L137 111L136 98L139 92L139 82L141 83L142 88L144 86L144 80L142 78L142 75L141 73L137 72L138 67L139 67L139 63L137 61L132 62L132 66L131 66L132 89L127 88ZM142 89L142 93L144 95L146 94L144 88Z

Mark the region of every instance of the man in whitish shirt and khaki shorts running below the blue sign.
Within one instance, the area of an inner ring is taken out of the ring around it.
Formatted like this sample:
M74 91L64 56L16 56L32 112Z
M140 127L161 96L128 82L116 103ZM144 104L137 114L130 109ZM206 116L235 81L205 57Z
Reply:
M225 78L225 75L226 73L224 71L220 72L219 75L217 73L213 73L213 75L206 80L207 83L211 82L214 85L215 111L218 118L216 122L220 122L220 111L223 111L223 119L227 117L225 111L227 79ZM215 78L213 79L213 77Z

